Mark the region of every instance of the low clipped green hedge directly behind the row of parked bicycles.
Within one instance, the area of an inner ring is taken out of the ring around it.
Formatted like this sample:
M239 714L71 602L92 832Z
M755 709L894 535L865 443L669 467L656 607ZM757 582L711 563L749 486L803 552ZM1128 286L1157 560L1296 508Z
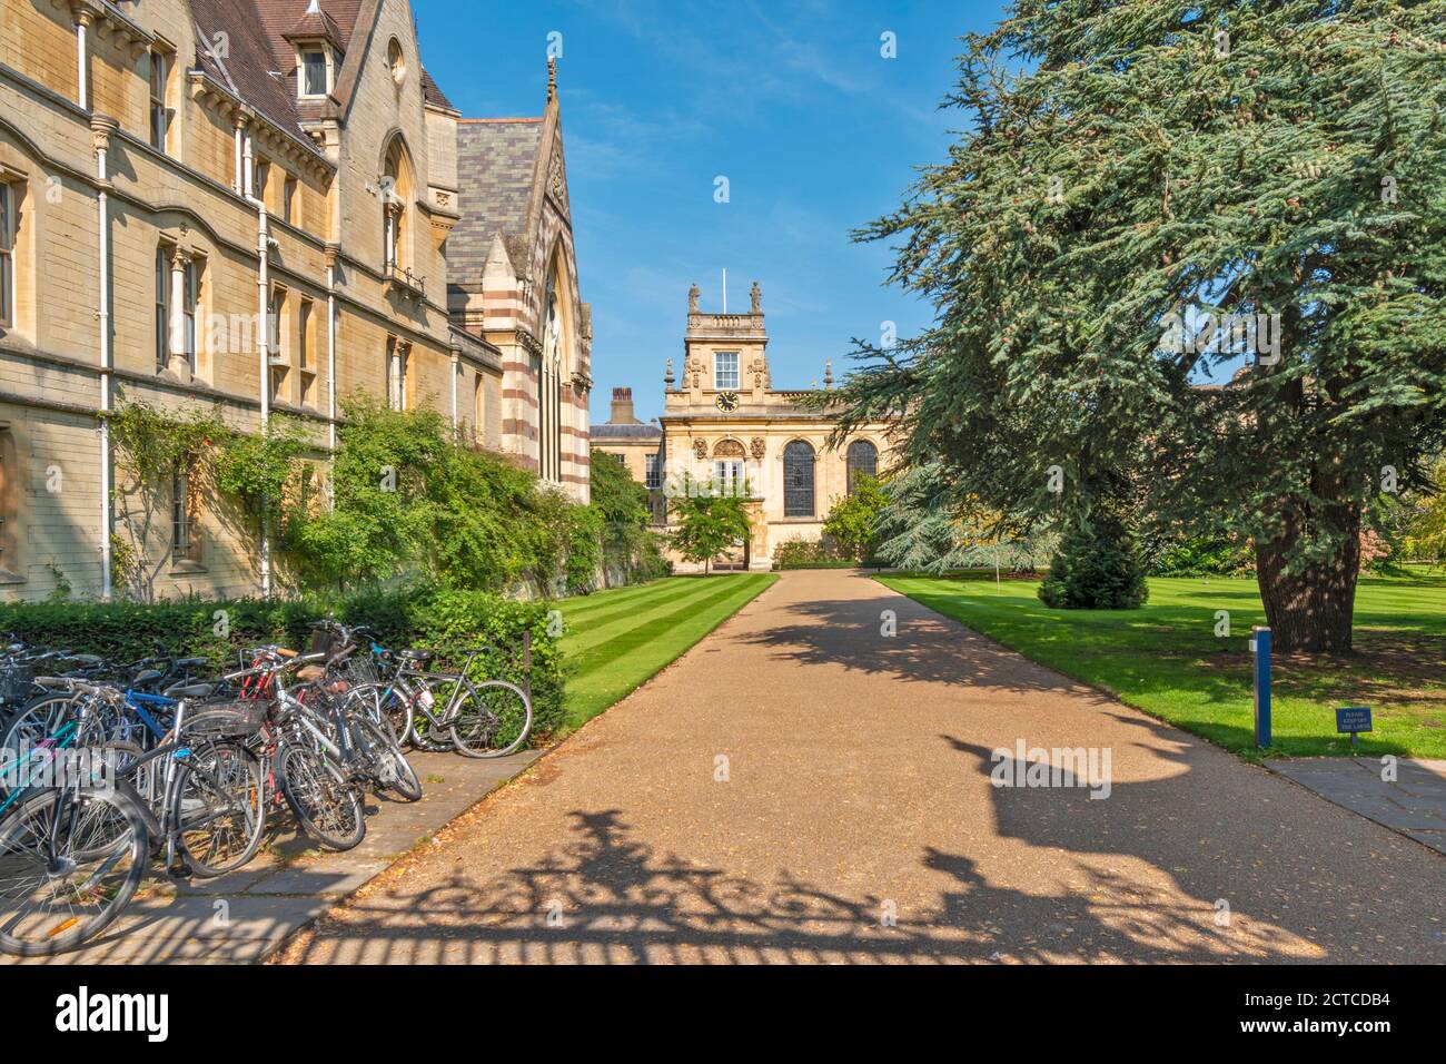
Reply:
M522 633L532 634L534 738L562 724L562 659L548 634L544 602L516 602L480 591L432 586L369 591L346 598L136 602L12 602L0 605L0 631L33 647L101 654L133 662L159 651L205 654L218 669L260 643L305 649L311 624L327 614L366 624L386 647L477 647L476 675L519 686ZM223 624L224 622L224 624Z

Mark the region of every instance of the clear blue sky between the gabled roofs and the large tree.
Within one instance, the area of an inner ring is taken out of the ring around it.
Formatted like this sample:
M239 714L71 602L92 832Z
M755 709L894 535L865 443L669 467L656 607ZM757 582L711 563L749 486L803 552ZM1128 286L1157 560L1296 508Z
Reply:
M999 3L414 4L422 59L467 116L539 114L548 33L583 298L593 305L593 420L630 385L661 413L662 366L683 350L687 290L703 308L763 288L774 385L821 385L852 337L901 336L928 307L885 287L889 252L849 232L898 206L915 166L946 156L963 116L940 111L959 36ZM897 58L881 55L881 35ZM730 201L714 203L714 178Z

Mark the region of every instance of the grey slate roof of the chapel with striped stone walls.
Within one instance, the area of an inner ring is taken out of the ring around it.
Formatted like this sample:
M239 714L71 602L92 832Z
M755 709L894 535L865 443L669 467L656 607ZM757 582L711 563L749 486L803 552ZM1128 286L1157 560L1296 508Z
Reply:
M525 233L542 119L463 119L457 178L463 217L447 237L447 281L479 287L492 237ZM525 263L513 262L522 268Z

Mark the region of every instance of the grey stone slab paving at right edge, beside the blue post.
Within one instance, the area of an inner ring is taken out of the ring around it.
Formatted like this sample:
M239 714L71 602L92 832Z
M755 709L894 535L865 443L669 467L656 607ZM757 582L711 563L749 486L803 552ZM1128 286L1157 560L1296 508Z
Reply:
M1446 854L1446 761L1300 757L1267 764L1322 798Z

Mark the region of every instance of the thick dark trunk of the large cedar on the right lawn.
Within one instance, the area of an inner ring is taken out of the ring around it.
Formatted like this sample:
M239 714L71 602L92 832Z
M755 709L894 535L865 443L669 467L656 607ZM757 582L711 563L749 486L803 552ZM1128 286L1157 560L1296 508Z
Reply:
M1284 537L1257 541L1255 579L1275 650L1351 651L1351 618L1361 569L1361 515L1353 512L1345 524L1346 539L1335 557L1312 562L1296 573L1285 572L1285 546L1294 539L1297 523L1291 523Z

